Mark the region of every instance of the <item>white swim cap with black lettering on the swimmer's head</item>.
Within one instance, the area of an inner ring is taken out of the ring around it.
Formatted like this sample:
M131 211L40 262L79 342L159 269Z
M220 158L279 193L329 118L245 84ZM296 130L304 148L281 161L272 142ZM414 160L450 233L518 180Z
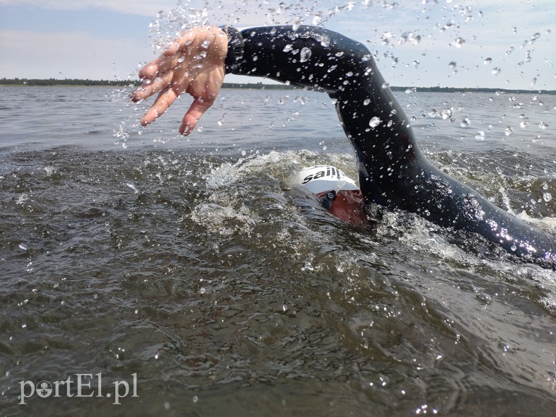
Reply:
M332 189L336 191L359 189L354 180L332 165L303 168L297 177L301 187L305 187L313 194L320 194Z

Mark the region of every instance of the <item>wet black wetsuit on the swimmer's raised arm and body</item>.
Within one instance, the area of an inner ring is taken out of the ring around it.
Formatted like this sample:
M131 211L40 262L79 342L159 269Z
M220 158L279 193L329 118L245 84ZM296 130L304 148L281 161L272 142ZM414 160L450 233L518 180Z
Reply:
M226 72L328 93L359 157L368 202L478 233L508 252L556 266L556 237L494 206L424 157L371 53L339 33L301 26L228 28Z

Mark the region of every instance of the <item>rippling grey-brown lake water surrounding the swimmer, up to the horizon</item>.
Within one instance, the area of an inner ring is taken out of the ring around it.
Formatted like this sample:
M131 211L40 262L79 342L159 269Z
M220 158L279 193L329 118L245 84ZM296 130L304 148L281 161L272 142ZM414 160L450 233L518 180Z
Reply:
M556 272L318 209L296 170L355 173L327 96L223 90L184 138L185 98L141 129L129 91L0 92L2 414L553 415ZM398 98L436 165L556 232L554 95Z

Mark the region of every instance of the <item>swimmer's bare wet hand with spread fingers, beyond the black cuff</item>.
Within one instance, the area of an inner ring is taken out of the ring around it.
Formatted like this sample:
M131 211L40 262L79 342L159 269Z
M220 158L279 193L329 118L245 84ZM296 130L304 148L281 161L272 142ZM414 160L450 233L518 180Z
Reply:
M190 134L220 92L227 53L226 33L216 26L193 28L173 40L160 57L139 71L142 83L132 93L132 100L159 93L141 124L154 122L185 91L193 102L183 117L180 133Z

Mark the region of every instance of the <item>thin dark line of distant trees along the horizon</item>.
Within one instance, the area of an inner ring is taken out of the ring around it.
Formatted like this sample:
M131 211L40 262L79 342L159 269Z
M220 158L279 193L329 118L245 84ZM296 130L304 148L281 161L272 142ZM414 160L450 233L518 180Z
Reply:
M81 80L77 78L57 78L31 79L31 78L0 78L0 86L138 86L139 81L124 80ZM294 90L299 87L286 84L265 84L265 83L224 83L223 88L244 88L253 90ZM535 93L535 94L556 94L556 90L506 90L504 88L453 88L453 87L393 87L393 91L414 90L421 93Z

